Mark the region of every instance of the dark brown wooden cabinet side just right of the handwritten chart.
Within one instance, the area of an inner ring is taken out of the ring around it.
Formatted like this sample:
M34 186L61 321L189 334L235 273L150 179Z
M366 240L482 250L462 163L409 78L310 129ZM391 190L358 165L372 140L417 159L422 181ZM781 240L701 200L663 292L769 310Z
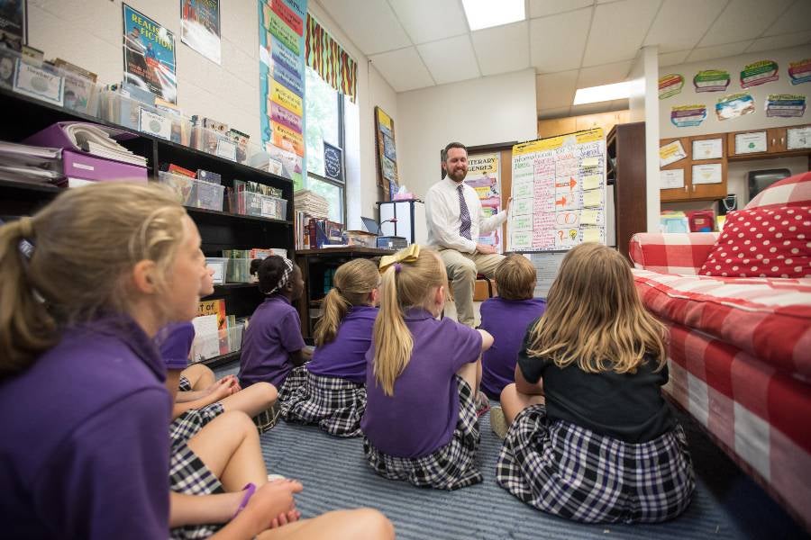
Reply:
M606 153L608 184L614 184L616 247L628 257L633 234L648 229L645 122L615 125L606 137Z

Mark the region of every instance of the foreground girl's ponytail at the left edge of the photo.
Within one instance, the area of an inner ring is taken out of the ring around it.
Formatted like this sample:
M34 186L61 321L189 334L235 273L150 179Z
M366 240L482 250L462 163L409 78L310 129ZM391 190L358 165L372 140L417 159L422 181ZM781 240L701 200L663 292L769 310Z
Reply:
M34 237L31 218L0 227L0 379L22 372L56 342L56 320L28 279L21 243Z

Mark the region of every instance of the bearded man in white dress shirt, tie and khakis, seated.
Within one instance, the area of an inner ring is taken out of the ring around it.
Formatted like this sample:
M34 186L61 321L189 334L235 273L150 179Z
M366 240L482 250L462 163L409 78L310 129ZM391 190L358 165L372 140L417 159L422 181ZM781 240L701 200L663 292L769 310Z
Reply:
M485 218L478 194L464 183L468 175L468 149L451 142L442 152L442 171L447 176L433 184L425 195L428 244L439 250L448 270L453 300L460 323L473 327L473 285L477 274L492 277L504 259L496 248L478 243L479 233L488 233L505 222L505 211ZM510 199L512 201L512 198Z

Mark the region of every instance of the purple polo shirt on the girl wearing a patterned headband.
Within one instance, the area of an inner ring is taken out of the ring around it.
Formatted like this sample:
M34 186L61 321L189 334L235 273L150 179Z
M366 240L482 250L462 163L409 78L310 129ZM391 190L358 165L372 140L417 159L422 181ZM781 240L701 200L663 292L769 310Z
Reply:
M281 388L293 369L290 353L305 347L298 311L282 294L273 294L253 312L242 338L242 386L265 381Z

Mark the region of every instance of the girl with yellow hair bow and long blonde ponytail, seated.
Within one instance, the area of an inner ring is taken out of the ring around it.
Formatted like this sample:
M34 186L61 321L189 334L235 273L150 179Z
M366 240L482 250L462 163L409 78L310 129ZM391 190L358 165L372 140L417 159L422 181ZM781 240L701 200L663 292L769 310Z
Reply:
M380 261L380 312L366 354L368 401L360 426L376 473L456 490L482 482L474 396L484 330L437 320L448 277L439 255L412 245Z

